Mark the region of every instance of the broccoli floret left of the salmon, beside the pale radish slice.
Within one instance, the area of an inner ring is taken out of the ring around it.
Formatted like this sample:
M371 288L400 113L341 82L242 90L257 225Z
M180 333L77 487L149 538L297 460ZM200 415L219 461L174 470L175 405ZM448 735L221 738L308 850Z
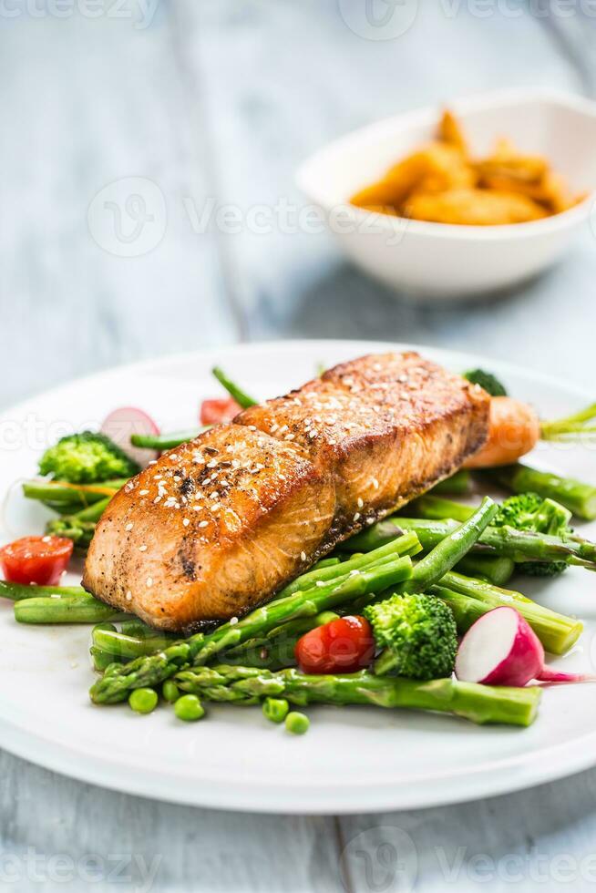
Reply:
M71 484L96 484L118 477L132 477L139 471L119 446L103 434L83 431L70 434L50 446L41 457L39 472Z

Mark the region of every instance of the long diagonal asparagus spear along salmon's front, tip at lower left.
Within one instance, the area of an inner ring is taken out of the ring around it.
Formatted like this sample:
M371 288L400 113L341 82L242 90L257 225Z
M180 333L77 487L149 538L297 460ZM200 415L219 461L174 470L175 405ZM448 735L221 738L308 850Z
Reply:
M406 546L411 548L410 538L406 539ZM312 589L299 590L284 599L263 605L241 621L224 623L211 633L200 632L189 639L174 642L162 652L138 658L121 668L109 668L103 679L92 686L91 699L96 703L124 701L132 689L163 682L185 664L205 663L216 653L262 636L287 621L313 616L368 592L382 591L396 585L412 574L411 559L409 556L398 557L399 549L398 539L396 558L384 561L378 567L375 567L373 553L369 556L372 562L367 567L349 574L347 578L339 576L336 580L317 580ZM337 567L343 570L344 565Z

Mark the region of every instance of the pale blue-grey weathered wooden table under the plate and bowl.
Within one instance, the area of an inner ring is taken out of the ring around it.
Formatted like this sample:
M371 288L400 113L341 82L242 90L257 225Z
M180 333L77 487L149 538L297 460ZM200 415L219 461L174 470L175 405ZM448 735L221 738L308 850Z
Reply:
M423 306L355 272L324 235L249 224L256 206L300 207L300 160L375 118L495 87L594 88L591 15L547 15L539 2L529 12L378 2L373 25L360 0L2 5L0 405L140 357L274 338L439 344L593 382L588 226L565 262L522 290ZM384 32L387 9L410 16L403 34ZM122 204L122 190L145 203ZM105 201L115 202L111 232L94 217ZM223 206L240 215L236 231L214 219ZM139 253L143 222L142 238L158 243ZM596 771L468 805L348 818L164 805L1 752L0 777L6 889L596 882Z

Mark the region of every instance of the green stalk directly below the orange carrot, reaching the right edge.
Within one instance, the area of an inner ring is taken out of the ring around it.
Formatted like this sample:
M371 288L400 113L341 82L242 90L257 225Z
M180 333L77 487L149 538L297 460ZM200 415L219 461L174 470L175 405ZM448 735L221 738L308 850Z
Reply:
M596 487L573 477L560 477L521 463L483 471L482 475L513 493L526 493L530 490L543 498L555 499L579 518L589 521L596 518Z

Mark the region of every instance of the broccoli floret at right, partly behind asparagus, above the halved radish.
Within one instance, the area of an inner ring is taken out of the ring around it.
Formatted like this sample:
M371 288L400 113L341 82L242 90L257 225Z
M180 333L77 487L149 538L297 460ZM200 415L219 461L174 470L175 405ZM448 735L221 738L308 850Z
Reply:
M554 499L543 499L538 493L519 493L501 503L492 524L564 537L573 532L570 518L569 509ZM521 561L517 570L530 577L558 577L568 567L567 561Z

